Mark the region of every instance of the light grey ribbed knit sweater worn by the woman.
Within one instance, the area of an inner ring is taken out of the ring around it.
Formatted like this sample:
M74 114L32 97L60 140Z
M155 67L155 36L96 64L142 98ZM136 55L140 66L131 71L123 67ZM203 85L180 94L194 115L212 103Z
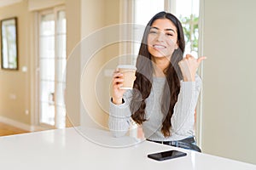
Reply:
M163 114L161 111L161 98L163 88L166 82L165 77L154 77L151 93L146 102L146 119L143 122L143 133L146 139L156 141L173 141L189 138L195 135L195 106L201 90L201 78L196 75L195 82L181 81L180 93L177 97L177 103L173 109L171 118L172 127L171 136L165 137L161 133ZM124 103L114 105L110 101L108 126L113 136L124 136L131 127L130 103L132 91L127 90L123 96Z

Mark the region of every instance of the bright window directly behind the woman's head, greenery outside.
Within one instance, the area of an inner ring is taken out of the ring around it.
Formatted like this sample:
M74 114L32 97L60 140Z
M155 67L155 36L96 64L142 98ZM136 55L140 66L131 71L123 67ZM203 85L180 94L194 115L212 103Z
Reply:
M134 15L131 16L131 22L136 25L146 26L154 14L166 10L176 15L183 24L183 31L186 41L185 54L191 53L198 55L199 38L199 3L200 0L135 0L133 3ZM143 11L142 11L143 8ZM143 37L142 32L138 31L137 26L133 30L134 37ZM134 38L135 39L135 38ZM140 42L134 42L132 53L138 54ZM135 64L136 59L133 59Z

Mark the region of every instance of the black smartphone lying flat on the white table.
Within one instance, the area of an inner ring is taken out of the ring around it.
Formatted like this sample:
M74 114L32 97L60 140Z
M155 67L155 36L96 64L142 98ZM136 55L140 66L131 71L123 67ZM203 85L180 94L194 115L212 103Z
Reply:
M167 150L167 151L158 152L154 154L148 154L149 158L152 158L157 161L164 161L164 160L181 157L181 156L187 156L187 153L184 153L178 150Z

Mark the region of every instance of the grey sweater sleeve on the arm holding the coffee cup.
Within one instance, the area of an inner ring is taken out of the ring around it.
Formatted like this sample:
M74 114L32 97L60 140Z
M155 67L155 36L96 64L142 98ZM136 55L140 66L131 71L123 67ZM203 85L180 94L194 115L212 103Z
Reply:
M124 103L121 105L115 105L110 101L108 127L114 137L125 136L131 124L131 91L127 91L124 94Z

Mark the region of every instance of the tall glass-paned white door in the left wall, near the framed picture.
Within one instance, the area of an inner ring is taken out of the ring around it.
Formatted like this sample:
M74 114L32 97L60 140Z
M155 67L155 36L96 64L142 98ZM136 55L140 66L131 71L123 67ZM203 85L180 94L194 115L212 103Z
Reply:
M39 20L39 123L65 127L66 110L62 95L66 67L66 13L64 8L42 11Z

